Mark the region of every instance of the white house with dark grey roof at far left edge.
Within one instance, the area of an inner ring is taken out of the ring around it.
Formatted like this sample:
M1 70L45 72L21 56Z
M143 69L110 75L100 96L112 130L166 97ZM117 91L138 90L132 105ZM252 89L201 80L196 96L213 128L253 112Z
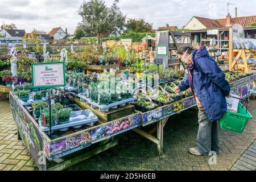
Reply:
M5 30L0 31L0 43L22 43L22 38L26 34L25 30Z

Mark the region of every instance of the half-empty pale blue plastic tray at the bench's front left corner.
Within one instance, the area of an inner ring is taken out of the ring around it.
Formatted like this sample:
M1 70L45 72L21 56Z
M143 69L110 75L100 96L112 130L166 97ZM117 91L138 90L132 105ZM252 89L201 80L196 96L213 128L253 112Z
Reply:
M95 122L98 121L98 117L91 110L80 110L71 113L71 118L69 123L64 125L52 126L52 133L54 131L67 131L69 127L79 129L84 125L93 126ZM42 126L42 120L39 119L40 130L44 132L49 132L49 127Z

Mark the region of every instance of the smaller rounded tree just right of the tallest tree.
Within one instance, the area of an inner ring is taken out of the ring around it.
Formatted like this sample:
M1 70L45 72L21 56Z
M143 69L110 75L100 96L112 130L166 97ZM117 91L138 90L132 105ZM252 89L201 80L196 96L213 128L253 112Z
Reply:
M150 32L152 26L152 23L147 23L144 19L129 19L126 23L126 32Z

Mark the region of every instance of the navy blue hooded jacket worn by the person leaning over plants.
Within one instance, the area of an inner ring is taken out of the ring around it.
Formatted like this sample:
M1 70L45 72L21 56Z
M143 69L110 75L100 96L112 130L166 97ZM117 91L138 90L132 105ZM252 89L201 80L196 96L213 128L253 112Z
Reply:
M205 47L192 51L192 61L192 87L208 118L214 122L227 110L225 96L229 96L230 85ZM189 88L189 77L180 83L179 88L181 91Z

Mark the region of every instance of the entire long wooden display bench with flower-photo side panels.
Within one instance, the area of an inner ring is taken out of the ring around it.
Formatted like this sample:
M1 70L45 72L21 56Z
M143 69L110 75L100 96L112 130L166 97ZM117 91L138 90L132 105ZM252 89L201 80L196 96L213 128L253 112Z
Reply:
M251 96L254 80L255 75L231 83L232 93L241 98ZM89 108L86 102L80 101L79 98L75 98L75 102L82 109ZM193 97L188 97L146 113L137 111L134 114L130 113L134 111L133 106L127 105L126 109L129 110L129 113L125 115L125 112L122 111L122 115L119 116L122 118L118 118L116 111L101 113L101 118L105 118L102 119L105 120L104 122L98 121L92 127L86 126L80 129L69 129L64 133L53 133L51 139L46 133L40 131L38 123L13 92L10 92L10 104L14 121L18 126L18 137L23 140L39 169L61 170L116 146L118 141L115 136L130 130L154 142L158 147L159 155L162 155L163 129L167 121L171 120L169 117L195 107L196 101ZM92 111L94 114L100 115L97 109ZM113 121L108 122L109 114L113 114L110 116L114 119ZM149 132L139 129L139 127L153 123L156 123L156 127ZM155 131L157 131L157 137L152 135Z

